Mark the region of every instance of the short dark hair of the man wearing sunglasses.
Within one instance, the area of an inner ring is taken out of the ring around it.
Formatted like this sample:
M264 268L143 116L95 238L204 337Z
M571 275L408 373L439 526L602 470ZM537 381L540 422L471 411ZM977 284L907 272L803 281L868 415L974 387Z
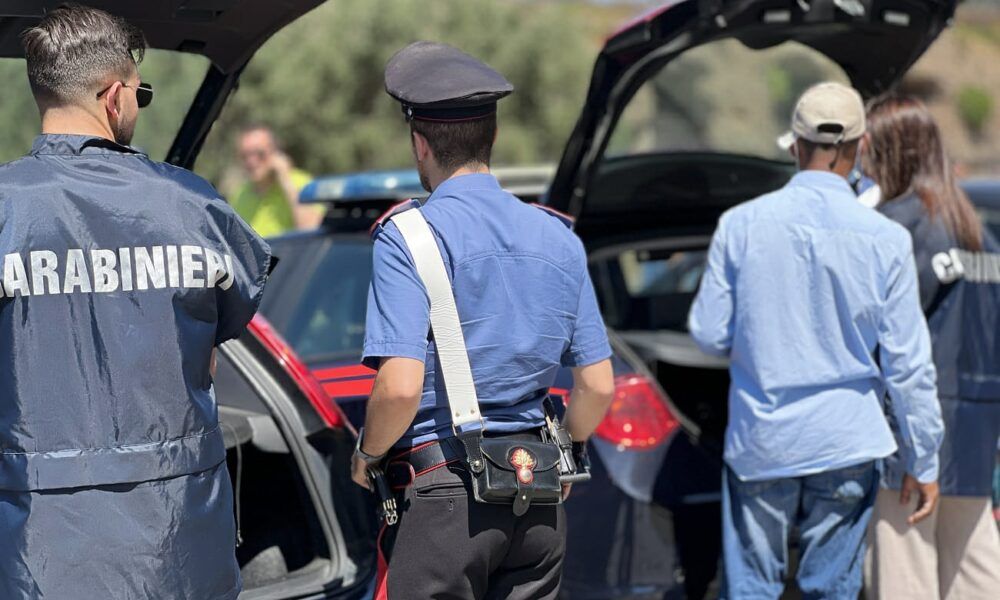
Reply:
M96 8L63 4L21 34L28 81L38 98L69 103L109 76L128 78L142 61L138 27Z

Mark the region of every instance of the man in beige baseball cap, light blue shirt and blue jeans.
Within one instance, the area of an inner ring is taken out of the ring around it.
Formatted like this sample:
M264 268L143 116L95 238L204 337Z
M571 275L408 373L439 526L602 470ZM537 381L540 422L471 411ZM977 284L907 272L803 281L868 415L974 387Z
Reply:
M943 426L905 229L861 206L846 176L865 131L856 91L820 84L786 143L801 171L719 221L689 327L729 356L725 598L777 598L801 532L807 596L855 598L876 461L899 424L916 522L937 499Z

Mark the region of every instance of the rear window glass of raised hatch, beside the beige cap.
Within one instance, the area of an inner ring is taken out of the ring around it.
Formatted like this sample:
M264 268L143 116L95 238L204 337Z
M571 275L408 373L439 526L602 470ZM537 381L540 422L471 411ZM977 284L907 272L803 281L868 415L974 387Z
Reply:
M787 159L776 140L788 129L796 99L827 80L848 83L836 63L794 42L767 50L736 40L693 48L642 85L606 155L690 151Z

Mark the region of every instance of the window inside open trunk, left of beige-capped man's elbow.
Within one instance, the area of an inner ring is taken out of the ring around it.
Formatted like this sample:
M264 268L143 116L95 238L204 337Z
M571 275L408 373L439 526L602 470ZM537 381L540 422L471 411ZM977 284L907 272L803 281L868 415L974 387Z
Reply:
M605 322L621 330L686 331L706 260L703 248L638 249L592 264Z

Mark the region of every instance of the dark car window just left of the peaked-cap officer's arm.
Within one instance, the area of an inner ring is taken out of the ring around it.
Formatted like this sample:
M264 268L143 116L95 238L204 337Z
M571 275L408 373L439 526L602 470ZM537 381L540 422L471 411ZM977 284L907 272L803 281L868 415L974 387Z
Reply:
M372 244L344 236L326 248L281 332L306 362L356 359L364 344Z

